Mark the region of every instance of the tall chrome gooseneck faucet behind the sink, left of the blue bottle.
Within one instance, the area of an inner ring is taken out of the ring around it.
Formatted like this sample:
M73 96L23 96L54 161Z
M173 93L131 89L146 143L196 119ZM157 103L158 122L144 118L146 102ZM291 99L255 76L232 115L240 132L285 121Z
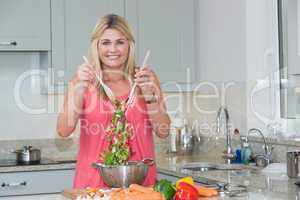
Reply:
M224 157L226 159L226 163L230 164L231 160L234 158L234 155L232 153L232 147L231 147L231 136L229 130L229 114L227 108L224 106L221 106L218 110L216 126L217 126L217 134L221 133L221 127L223 127L224 133L226 135L226 152Z

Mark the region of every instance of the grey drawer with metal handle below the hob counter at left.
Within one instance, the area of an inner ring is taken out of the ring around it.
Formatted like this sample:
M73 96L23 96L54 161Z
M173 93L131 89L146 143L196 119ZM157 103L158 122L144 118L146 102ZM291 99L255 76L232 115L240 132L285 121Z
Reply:
M0 173L0 196L59 193L73 185L74 170Z

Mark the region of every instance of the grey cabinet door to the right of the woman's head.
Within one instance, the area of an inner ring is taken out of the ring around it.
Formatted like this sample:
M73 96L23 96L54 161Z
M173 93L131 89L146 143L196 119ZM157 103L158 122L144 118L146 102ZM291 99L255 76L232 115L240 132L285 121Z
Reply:
M141 64L150 49L148 64L162 83L195 80L195 7L194 0L126 1L126 18L136 37L137 61Z

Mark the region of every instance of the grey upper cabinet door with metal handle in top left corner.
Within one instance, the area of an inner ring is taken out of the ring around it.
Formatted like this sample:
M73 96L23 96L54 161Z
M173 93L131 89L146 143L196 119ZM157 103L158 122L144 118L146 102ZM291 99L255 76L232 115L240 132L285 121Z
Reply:
M0 51L50 50L50 0L1 0Z

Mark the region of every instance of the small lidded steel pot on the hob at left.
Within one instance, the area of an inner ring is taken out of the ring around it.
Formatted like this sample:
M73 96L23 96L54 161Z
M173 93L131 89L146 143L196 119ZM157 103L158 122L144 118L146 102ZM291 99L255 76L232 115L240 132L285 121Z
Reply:
M18 149L13 153L16 154L17 163L38 164L41 160L41 151L32 148L32 146L24 146L22 149Z

